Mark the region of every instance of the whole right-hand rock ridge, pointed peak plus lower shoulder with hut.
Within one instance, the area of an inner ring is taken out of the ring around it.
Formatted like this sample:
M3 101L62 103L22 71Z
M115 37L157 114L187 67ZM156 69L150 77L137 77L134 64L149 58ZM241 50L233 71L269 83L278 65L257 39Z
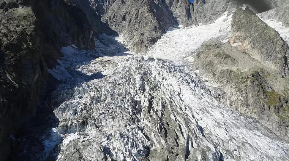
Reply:
M195 68L224 89L219 97L222 102L288 140L287 42L247 7L233 14L229 43L236 45L219 41L202 44ZM247 74L252 78L246 78Z

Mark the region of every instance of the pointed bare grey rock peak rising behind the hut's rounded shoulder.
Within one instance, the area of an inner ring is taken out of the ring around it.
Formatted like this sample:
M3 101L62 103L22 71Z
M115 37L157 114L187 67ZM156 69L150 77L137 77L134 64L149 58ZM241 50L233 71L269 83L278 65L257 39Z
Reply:
M232 32L231 44L242 43L242 48L253 58L279 71L282 77L289 75L288 44L248 7L244 11L239 8L233 14Z

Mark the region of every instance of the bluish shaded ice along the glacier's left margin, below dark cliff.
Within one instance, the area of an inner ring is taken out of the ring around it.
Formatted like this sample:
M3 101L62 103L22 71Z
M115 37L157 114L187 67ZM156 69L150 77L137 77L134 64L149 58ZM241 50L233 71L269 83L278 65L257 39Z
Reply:
M80 88L83 87L83 83L105 77L101 71L88 74L80 70L80 67L86 68L86 65L94 63L91 61L99 57L131 55L127 53L129 50L123 44L116 41L113 36L107 36L105 34L95 39L95 48L95 51L80 51L74 45L61 48L64 57L58 61L59 65L57 65L55 69L49 71L53 77L58 80L56 89L51 91L52 95L48 97L48 99L50 99L48 102L50 103L50 107L53 107L53 110L58 108L67 99L74 99L75 97L81 98ZM53 117L55 117L55 120L50 124L53 126L49 126L48 130L56 128L59 125L58 118L53 111L51 113ZM71 133L71 131L69 131L70 130L67 129L67 131L64 131L62 134ZM46 148L48 150L44 150L43 155L48 160L57 160L57 156L61 152L61 147L58 145L62 143L62 136L50 130L50 135L47 136L47 138L43 146L44 149Z

